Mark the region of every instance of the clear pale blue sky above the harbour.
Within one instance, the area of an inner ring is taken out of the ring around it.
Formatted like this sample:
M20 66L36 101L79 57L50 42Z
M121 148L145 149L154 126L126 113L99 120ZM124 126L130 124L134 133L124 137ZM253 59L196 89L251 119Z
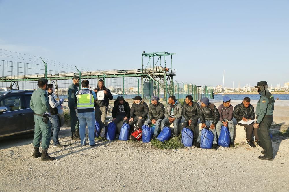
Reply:
M177 81L222 85L225 70L225 87L282 86L289 82L288 7L288 0L0 0L0 49L67 64L49 68L59 71L139 69L143 51L166 51L176 53ZM0 60L34 58L13 52L0 50Z

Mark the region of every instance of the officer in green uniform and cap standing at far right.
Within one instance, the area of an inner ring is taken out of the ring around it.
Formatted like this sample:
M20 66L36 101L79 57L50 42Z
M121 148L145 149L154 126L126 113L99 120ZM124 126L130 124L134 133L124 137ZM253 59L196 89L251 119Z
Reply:
M263 156L259 156L262 160L273 160L273 147L270 138L270 126L273 122L274 111L274 97L268 90L268 84L266 81L260 81L255 86L258 88L258 92L261 95L257 102L256 115L257 121L254 124L254 128L258 129L258 136L261 141L261 151Z

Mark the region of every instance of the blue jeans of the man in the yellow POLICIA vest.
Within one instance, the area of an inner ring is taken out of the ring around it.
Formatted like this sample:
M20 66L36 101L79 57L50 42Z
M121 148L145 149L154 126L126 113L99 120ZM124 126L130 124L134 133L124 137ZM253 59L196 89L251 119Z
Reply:
M88 127L88 140L89 145L94 144L94 126L95 126L95 113L94 112L86 112L86 113L78 113L79 120L79 136L81 145L85 145L85 127L87 124Z

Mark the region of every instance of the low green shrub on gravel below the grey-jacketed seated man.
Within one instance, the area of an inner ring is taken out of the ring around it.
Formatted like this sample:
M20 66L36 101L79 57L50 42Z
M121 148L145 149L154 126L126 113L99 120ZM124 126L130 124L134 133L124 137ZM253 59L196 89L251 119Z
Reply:
M183 143L181 142L181 134L165 142L153 139L151 140L151 145L159 149L178 149L184 147Z

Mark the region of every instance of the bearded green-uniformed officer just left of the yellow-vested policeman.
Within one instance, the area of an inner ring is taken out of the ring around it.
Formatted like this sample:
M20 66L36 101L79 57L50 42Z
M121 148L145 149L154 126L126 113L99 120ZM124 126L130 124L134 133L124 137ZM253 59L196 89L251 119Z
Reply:
M75 93L78 91L79 87L79 77L74 75L71 85L67 89L68 97L68 107L70 111L70 130L71 130L71 140L80 140L79 137L79 121L77 118L77 98Z

